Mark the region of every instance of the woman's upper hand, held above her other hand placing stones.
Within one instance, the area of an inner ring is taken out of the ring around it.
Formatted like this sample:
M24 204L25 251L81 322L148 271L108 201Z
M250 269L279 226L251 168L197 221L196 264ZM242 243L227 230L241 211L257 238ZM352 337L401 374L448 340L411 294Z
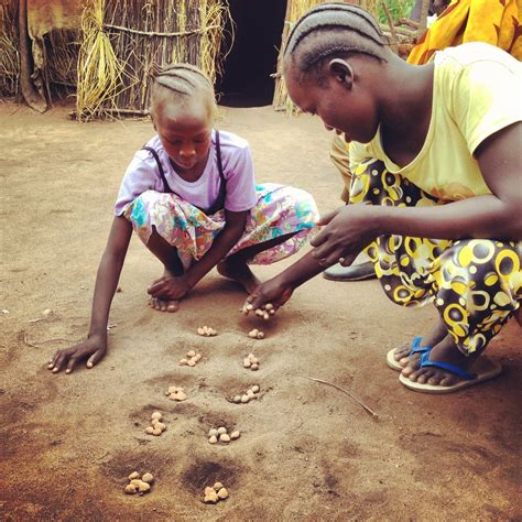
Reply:
M348 267L357 254L378 236L376 211L372 205L346 205L323 217L324 228L311 244L312 255L320 264L337 262Z

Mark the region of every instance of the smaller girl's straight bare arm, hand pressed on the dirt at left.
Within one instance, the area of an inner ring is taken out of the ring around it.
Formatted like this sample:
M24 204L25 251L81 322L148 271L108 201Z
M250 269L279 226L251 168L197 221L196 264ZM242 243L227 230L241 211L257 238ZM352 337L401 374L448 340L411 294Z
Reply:
M66 368L66 373L70 373L76 363L83 359L87 359L87 368L93 368L105 356L110 304L118 286L131 235L132 225L123 217L115 217L96 276L89 334L83 342L54 354L48 365L48 369L54 373L63 368Z

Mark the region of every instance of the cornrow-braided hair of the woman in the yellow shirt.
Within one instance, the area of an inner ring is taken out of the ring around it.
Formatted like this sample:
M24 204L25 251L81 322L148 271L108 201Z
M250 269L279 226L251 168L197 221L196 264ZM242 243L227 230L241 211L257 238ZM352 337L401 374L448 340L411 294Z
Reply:
M305 13L290 33L285 59L302 73L319 69L325 61L348 53L385 62L388 39L363 9L344 3L324 3Z

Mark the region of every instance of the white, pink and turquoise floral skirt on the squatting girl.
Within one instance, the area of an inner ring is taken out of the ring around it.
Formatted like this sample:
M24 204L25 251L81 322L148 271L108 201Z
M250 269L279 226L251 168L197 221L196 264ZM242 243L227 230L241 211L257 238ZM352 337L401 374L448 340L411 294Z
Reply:
M271 264L303 247L319 215L314 198L300 188L265 183L257 185L255 193L258 203L247 217L244 232L227 257L247 247L294 233L248 261L250 264ZM225 210L207 216L175 194L155 191L146 191L128 204L123 216L132 222L145 244L154 227L168 244L177 249L185 269L193 260L205 255L225 227Z

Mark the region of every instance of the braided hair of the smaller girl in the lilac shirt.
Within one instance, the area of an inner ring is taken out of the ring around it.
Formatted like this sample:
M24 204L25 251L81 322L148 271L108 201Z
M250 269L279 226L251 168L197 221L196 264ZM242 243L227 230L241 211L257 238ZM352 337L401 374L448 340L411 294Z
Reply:
M208 100L211 115L216 113L214 86L208 76L195 65L167 65L154 77L151 112L154 113L157 107L165 101L183 104L195 97Z

